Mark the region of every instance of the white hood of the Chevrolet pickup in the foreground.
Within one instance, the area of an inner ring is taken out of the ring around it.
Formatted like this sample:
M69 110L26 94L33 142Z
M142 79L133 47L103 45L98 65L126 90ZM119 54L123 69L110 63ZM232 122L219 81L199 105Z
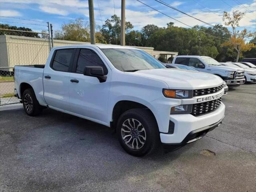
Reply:
M163 81L170 89L204 89L223 83L220 77L213 74L176 68L140 70L132 74Z

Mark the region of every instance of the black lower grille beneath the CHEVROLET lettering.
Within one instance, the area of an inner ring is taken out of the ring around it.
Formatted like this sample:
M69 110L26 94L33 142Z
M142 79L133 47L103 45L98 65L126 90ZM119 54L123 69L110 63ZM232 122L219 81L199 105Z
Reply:
M208 102L193 104L191 114L196 116L196 115L201 115L201 114L205 114L210 111L213 111L216 108L218 108L221 101L222 101L222 98L218 98L216 100L212 100Z

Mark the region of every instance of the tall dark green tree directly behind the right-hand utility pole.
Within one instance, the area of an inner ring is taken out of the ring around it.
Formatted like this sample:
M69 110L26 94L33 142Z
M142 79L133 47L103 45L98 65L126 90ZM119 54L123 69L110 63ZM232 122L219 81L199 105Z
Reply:
M125 22L125 32L126 34L133 28L130 22ZM120 34L121 34L121 20L117 15L111 16L110 19L105 21L100 32L106 38L106 42L110 44L120 44Z

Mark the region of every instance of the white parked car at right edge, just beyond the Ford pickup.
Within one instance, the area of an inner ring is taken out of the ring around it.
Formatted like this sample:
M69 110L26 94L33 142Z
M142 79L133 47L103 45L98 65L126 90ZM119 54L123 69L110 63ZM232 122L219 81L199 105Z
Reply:
M244 69L244 77L246 82L255 82L256 81L256 69L249 68L248 66L242 64L242 63L236 63L236 62L226 62L221 63L224 66L239 66Z

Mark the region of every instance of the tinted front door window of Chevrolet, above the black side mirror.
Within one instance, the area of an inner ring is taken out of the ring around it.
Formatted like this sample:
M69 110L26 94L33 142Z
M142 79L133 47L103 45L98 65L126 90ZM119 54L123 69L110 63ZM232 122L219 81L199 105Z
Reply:
M84 68L86 66L101 66L103 68L104 75L108 74L108 69L96 52L90 49L81 49L78 56L76 72L84 73Z

